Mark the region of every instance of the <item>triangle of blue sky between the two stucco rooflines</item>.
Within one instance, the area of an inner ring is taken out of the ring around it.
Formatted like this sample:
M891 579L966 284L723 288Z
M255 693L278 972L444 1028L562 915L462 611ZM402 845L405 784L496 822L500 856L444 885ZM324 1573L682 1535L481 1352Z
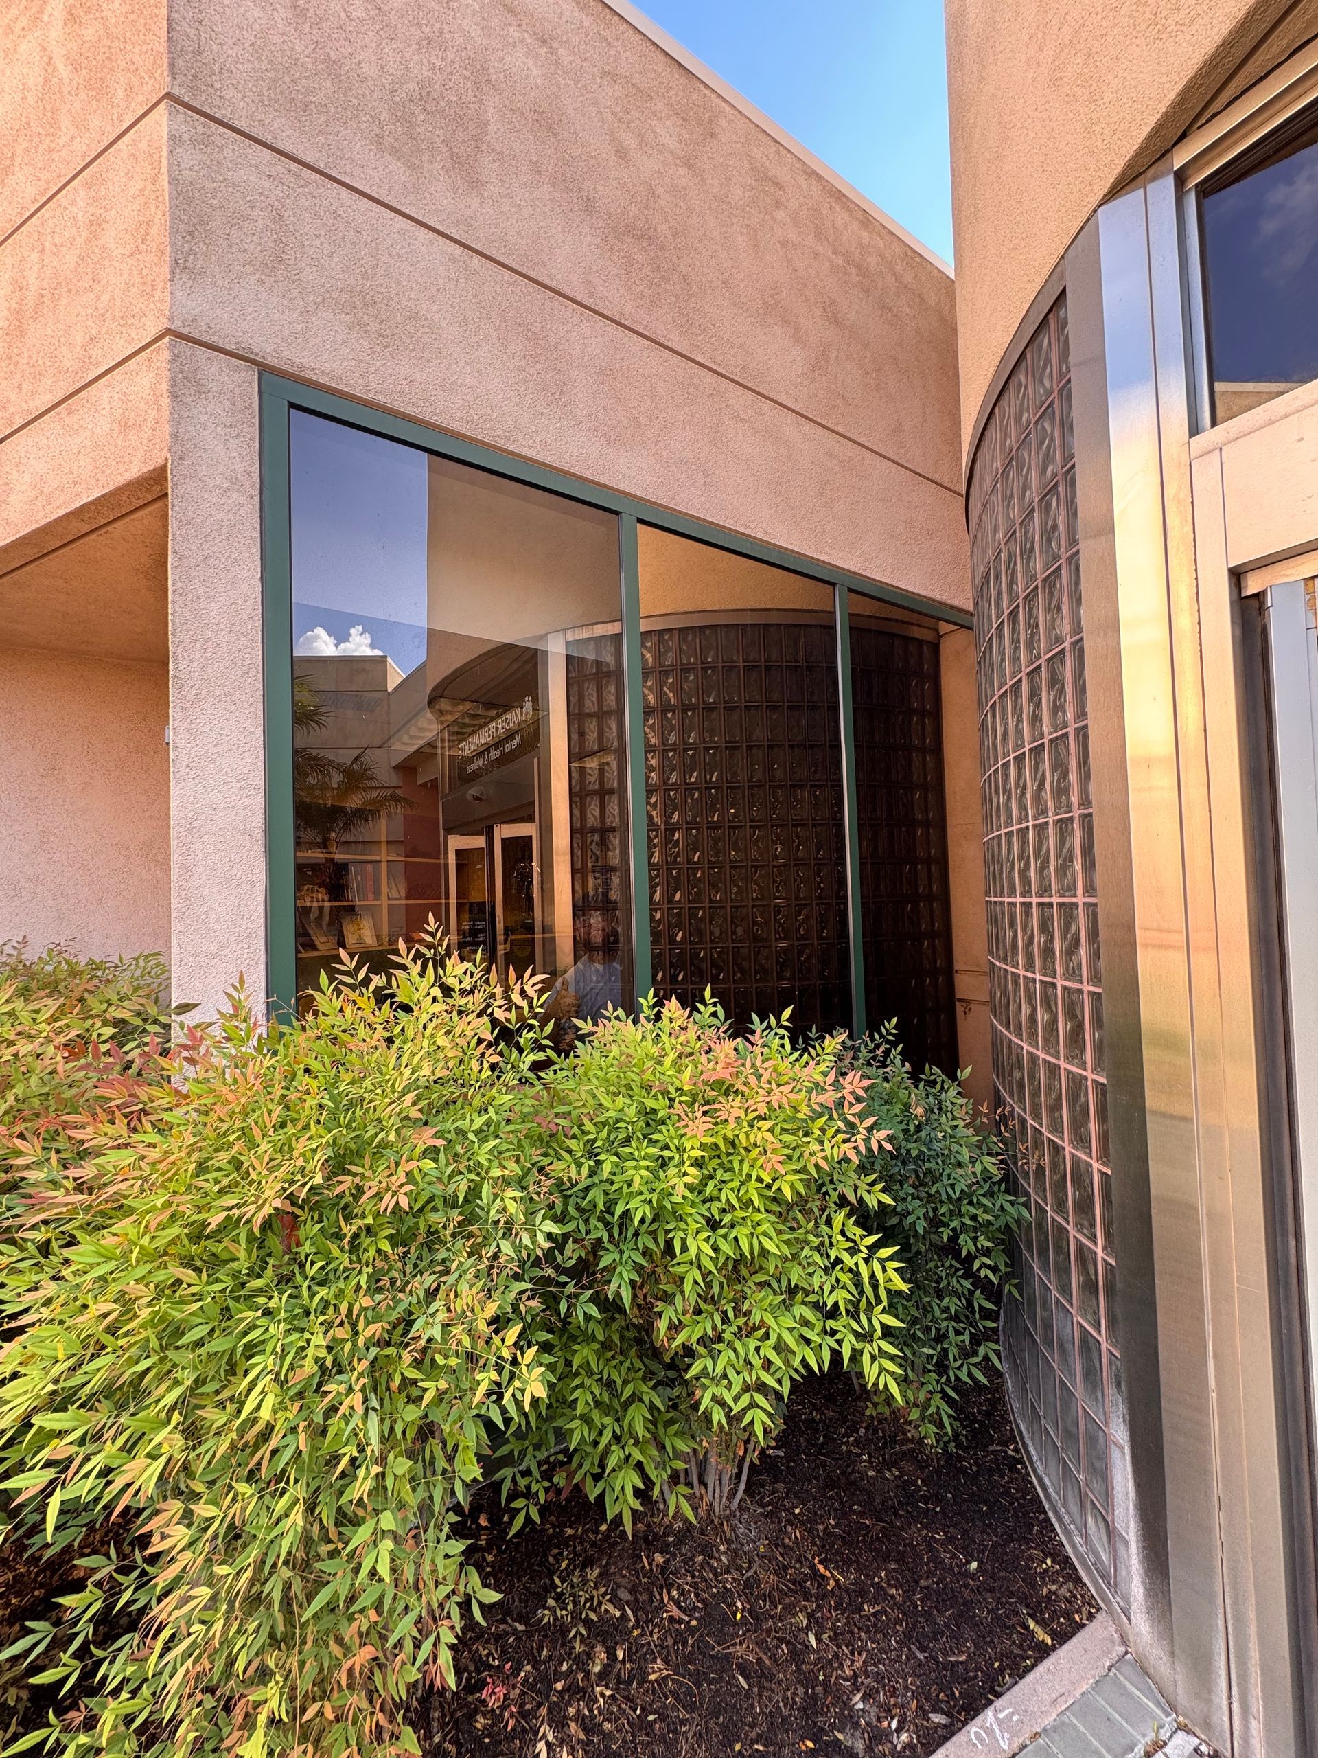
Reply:
M952 260L942 0L638 0L780 128Z

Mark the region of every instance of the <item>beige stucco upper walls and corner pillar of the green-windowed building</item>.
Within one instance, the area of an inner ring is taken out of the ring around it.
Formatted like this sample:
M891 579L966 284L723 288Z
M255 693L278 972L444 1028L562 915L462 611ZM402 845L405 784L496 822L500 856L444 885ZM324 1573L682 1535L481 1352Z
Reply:
M260 367L968 603L945 269L603 0L14 40L0 575L169 487L188 1000L264 981Z

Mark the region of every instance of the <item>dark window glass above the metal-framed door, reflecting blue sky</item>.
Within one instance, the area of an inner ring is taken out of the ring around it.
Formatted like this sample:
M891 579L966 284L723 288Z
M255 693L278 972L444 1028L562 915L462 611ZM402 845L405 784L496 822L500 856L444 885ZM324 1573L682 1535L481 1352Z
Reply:
M1269 135L1202 197L1213 418L1318 378L1318 120Z

